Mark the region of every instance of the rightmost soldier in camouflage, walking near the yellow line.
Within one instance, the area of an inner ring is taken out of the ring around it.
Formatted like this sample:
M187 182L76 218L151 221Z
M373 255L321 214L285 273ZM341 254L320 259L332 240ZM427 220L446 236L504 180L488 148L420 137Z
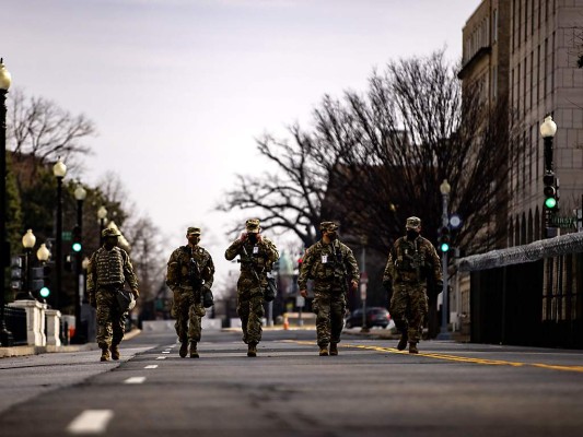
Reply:
M438 287L443 282L435 248L419 235L421 218L407 218L405 227L407 235L395 241L388 255L383 285L389 295L393 293L390 315L401 334L397 349L405 350L408 341L409 353L418 354L417 343L429 309L428 276L433 275Z

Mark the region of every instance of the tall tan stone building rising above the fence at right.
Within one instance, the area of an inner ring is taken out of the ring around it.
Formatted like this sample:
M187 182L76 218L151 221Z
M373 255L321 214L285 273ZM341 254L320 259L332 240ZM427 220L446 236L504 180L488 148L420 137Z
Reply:
M583 0L485 0L464 29L467 88L478 83L491 106L506 99L517 141L509 146L506 246L543 237L543 139L539 127L552 115L555 173L560 214L581 208L583 178ZM563 229L565 232L568 229Z

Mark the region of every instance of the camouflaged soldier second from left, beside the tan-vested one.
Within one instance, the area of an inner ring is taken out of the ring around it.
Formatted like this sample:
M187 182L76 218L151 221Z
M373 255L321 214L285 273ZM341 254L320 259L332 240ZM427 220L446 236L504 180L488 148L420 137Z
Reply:
M198 245L200 228L189 227L186 231L186 239L188 244L174 250L170 257L166 285L174 293L171 315L176 319L174 328L180 341L178 354L184 358L189 352L190 358L198 358L200 321L206 315L202 295L212 286L214 264L210 253Z

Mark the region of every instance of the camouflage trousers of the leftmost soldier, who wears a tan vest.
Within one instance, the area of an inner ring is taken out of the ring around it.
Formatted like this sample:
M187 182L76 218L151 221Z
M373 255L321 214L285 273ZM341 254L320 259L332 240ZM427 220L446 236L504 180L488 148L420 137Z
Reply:
M126 331L127 312L121 312L117 304L117 291L110 287L100 287L95 293L97 304L97 344L109 347L119 344Z

